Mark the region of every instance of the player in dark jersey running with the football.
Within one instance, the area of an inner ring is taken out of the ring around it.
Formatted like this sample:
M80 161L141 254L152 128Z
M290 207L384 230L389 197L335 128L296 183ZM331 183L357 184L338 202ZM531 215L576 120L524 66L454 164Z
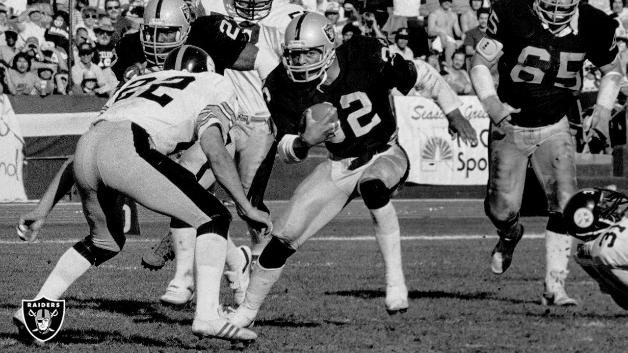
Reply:
M298 163L312 146L325 142L330 157L301 182L280 215L271 241L252 266L244 302L227 315L232 323L246 327L254 320L286 259L358 196L371 212L384 258L386 310L407 310L399 222L390 198L406 179L409 163L398 143L389 89L407 94L420 83L437 98L453 132L464 141L477 139L458 109L462 103L433 68L401 57L388 62L386 53L379 40L365 36L336 50L333 26L320 14L305 13L288 24L283 65L271 72L264 88L278 126L279 155ZM333 104L338 122L314 119L308 107L321 102Z

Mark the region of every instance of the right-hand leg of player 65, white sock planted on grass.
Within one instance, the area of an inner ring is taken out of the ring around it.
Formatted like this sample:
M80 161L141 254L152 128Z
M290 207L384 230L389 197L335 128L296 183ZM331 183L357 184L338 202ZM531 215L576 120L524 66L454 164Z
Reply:
M548 199L549 220L545 232L545 291L543 305L577 305L565 293L567 264L573 237L566 231L563 208L577 190L575 149L566 118L539 129L538 148L531 158L534 172Z

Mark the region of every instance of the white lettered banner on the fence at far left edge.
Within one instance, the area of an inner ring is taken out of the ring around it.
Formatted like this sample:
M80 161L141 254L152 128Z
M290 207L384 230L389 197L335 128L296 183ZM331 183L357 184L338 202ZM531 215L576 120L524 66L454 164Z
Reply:
M24 139L11 102L0 95L0 202L26 201L23 183Z

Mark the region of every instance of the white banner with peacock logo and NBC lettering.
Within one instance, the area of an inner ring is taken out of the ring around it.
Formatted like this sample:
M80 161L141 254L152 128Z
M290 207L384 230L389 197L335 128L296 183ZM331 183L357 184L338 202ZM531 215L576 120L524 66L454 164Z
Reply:
M486 185L489 178L489 116L475 96L463 96L462 114L480 141L467 146L452 140L448 121L435 102L423 97L394 96L399 141L410 158L408 182L428 185Z

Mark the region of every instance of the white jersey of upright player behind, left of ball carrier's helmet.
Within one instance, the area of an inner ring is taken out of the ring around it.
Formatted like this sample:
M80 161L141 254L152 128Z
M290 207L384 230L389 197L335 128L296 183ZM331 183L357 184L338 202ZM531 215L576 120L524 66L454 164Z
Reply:
M258 21L248 21L237 15L233 0L201 0L205 11L226 14L236 20L241 30L249 35L249 42L261 48L256 58L256 71L225 70L225 76L236 87L241 114L254 117L270 117L262 94L263 80L279 65L283 52L284 34L288 23L305 12L301 6L276 0L268 16ZM262 49L264 48L264 49ZM263 55L260 55L263 53Z

